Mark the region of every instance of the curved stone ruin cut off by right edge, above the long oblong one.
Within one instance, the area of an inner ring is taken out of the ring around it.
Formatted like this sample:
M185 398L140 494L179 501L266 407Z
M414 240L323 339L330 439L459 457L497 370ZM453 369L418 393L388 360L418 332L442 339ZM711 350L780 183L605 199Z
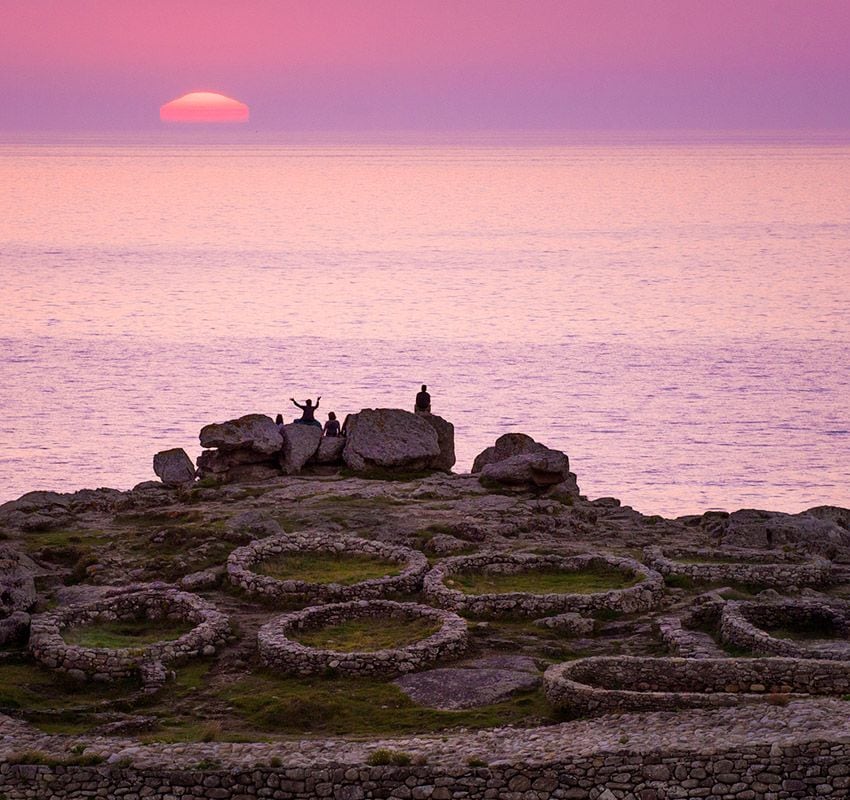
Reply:
M805 632L807 638L771 633L782 628ZM825 635L818 637L818 631ZM826 641L830 633L834 641ZM720 614L720 639L762 655L850 661L850 603L833 598L729 602Z

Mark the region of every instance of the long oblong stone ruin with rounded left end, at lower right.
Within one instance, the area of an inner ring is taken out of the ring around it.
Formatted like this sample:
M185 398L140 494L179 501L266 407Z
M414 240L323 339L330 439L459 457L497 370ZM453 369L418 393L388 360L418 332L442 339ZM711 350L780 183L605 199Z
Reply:
M549 667L543 685L555 708L575 715L720 708L844 695L850 666L798 658L597 656Z

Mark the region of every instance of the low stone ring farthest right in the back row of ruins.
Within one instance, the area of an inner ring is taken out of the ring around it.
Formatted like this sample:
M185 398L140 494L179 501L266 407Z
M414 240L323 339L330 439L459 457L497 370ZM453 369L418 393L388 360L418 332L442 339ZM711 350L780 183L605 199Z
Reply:
M682 576L697 583L740 584L787 589L820 586L832 580L832 563L814 557L807 561L777 550L687 549L653 546L644 550L644 562L667 577Z

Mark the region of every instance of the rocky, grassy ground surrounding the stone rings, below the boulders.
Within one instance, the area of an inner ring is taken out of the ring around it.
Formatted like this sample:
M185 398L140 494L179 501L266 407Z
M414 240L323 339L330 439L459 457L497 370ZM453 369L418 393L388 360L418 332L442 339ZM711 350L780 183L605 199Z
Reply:
M557 459L543 457L542 467L539 461L530 468L523 462L523 474L545 467L566 476L567 465L552 466ZM492 453L484 458L484 471L494 463L488 458ZM234 548L281 531L402 544L432 561L487 551L602 551L641 559L649 545L749 547L766 554L774 549L833 559L839 578L824 591L850 595L850 584L844 583L850 570L840 566L850 564L846 509L663 519L613 498L581 497L560 484L553 489L546 481L502 480L506 469L490 469L486 476L396 470L376 479L352 476L345 467L319 466L312 474L276 474L256 482L184 481L173 487L149 482L129 492L38 492L5 504L0 507L0 752L69 752L84 742L87 752L134 762L196 763L215 757L244 765L285 757L292 764L356 763L391 739L393 747L422 758L492 761L697 738L710 747L753 737L850 735L840 699L572 721L547 705L540 688L546 666L586 655L665 654L656 630L659 618L687 608L709 589L750 597L761 591L753 586L671 580L662 606L652 612L603 613L562 628L526 619L470 620L471 648L464 660L438 665L445 671L419 682L287 678L259 665L257 630L280 609L229 587L224 564ZM159 693L143 695L133 682L77 685L37 666L27 654L29 614L128 583L157 581L199 593L229 616L234 630L223 651L180 667ZM416 595L396 599L421 601ZM505 734L505 725L527 730L521 736ZM287 744L292 740L298 745Z

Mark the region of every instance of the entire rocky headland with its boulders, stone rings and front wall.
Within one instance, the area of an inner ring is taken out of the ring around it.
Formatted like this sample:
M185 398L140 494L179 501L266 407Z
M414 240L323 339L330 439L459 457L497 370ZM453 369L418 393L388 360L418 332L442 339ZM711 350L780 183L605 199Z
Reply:
M161 482L0 506L0 798L848 796L846 509L665 520L584 497L567 456L524 434L463 475L440 417L367 409L346 428L252 414L206 426L197 464L158 453ZM276 577L287 558L386 574ZM510 588L544 572L574 588ZM581 584L611 574L621 586ZM122 621L183 628L66 639ZM321 638L346 626L351 647ZM8 683L27 671L55 698ZM391 689L432 727L313 734L334 724L314 685L383 693L382 725ZM247 725L252 703L265 728L194 732L207 714ZM169 715L189 722L159 741Z

